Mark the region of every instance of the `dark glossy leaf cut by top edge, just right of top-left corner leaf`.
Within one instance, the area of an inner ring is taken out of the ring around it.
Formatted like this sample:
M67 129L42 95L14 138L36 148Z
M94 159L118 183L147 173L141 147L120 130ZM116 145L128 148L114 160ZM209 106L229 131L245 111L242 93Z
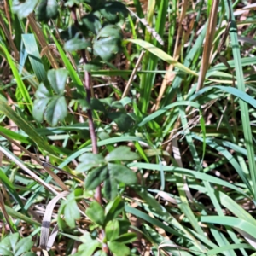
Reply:
M58 16L58 3L56 0L40 0L36 9L36 17L39 21L48 22Z

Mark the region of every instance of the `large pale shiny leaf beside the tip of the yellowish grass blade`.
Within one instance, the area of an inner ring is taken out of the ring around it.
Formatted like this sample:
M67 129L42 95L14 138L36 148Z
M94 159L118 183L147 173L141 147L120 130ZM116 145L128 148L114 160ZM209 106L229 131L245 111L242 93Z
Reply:
M122 33L118 26L107 25L98 33L93 44L94 54L103 61L110 61L122 48Z

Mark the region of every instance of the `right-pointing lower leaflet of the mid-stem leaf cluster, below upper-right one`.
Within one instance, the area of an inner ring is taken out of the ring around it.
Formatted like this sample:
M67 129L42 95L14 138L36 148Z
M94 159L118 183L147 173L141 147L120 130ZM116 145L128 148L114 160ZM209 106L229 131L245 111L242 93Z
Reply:
M119 182L131 185L137 183L137 176L126 166L108 163L108 170Z

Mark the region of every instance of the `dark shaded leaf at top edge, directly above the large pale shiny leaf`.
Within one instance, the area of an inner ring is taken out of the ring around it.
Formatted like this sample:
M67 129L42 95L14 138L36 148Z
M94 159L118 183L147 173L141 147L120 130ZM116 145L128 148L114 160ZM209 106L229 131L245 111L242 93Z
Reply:
M107 2L104 7L99 10L102 16L110 23L117 23L121 18L128 15L128 10L124 3Z

